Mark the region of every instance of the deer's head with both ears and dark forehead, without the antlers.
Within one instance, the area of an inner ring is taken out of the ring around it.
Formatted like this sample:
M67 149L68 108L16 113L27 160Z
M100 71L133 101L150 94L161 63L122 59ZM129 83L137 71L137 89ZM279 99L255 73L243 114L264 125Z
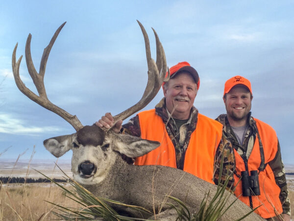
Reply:
M105 132L96 125L85 126L72 135L44 140L44 146L55 157L72 149L73 178L85 185L103 181L120 154L143 156L159 144L157 141Z

